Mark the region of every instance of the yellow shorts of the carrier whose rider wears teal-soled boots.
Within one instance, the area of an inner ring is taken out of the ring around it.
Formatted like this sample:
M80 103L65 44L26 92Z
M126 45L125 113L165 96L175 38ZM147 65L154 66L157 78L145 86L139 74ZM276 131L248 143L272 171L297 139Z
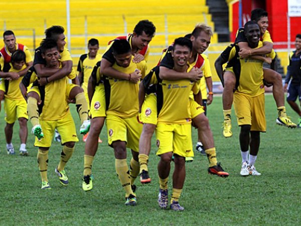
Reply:
M44 133L44 138L42 138L41 141L38 141L36 138L35 146L37 147L50 147L55 129L57 129L61 135L62 144L67 142L78 142L75 124L70 111L68 111L63 119L54 121L40 120L40 124Z

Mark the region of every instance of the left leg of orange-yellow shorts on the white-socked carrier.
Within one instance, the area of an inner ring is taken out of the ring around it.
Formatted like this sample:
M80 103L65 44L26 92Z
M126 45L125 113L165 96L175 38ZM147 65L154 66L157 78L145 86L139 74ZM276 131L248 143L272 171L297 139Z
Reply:
M250 97L234 93L233 106L238 126L251 125L251 102Z

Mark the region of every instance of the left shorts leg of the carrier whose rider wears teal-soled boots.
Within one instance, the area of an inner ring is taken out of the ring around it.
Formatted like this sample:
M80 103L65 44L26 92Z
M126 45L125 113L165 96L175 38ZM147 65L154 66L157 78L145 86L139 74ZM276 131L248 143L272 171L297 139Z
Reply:
M51 146L54 131L57 125L57 121L44 121L40 120L40 125L44 134L44 138L40 141L36 137L35 146L48 148Z

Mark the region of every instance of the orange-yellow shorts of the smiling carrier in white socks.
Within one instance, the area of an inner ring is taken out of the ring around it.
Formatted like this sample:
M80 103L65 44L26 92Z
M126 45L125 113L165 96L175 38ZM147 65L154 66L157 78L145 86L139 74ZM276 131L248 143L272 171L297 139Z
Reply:
M247 96L234 93L234 110L238 126L251 125L251 131L266 131L264 93Z

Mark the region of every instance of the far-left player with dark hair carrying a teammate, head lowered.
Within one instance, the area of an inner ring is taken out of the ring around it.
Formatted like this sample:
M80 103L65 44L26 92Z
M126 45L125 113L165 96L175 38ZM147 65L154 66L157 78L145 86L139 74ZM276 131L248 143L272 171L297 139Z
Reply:
M5 73L19 73L26 68L25 64L26 54L22 50L16 50L12 57L10 63L4 63L2 67L3 74ZM22 72L21 72L22 74ZM16 120L19 121L20 125L20 155L27 156L28 152L26 150L27 141L27 103L22 96L19 89L19 84L22 77L17 80L0 80L0 90L5 93L4 108L5 108L5 137L7 141L7 151L9 155L15 154L14 146L12 144L13 139L13 129Z

